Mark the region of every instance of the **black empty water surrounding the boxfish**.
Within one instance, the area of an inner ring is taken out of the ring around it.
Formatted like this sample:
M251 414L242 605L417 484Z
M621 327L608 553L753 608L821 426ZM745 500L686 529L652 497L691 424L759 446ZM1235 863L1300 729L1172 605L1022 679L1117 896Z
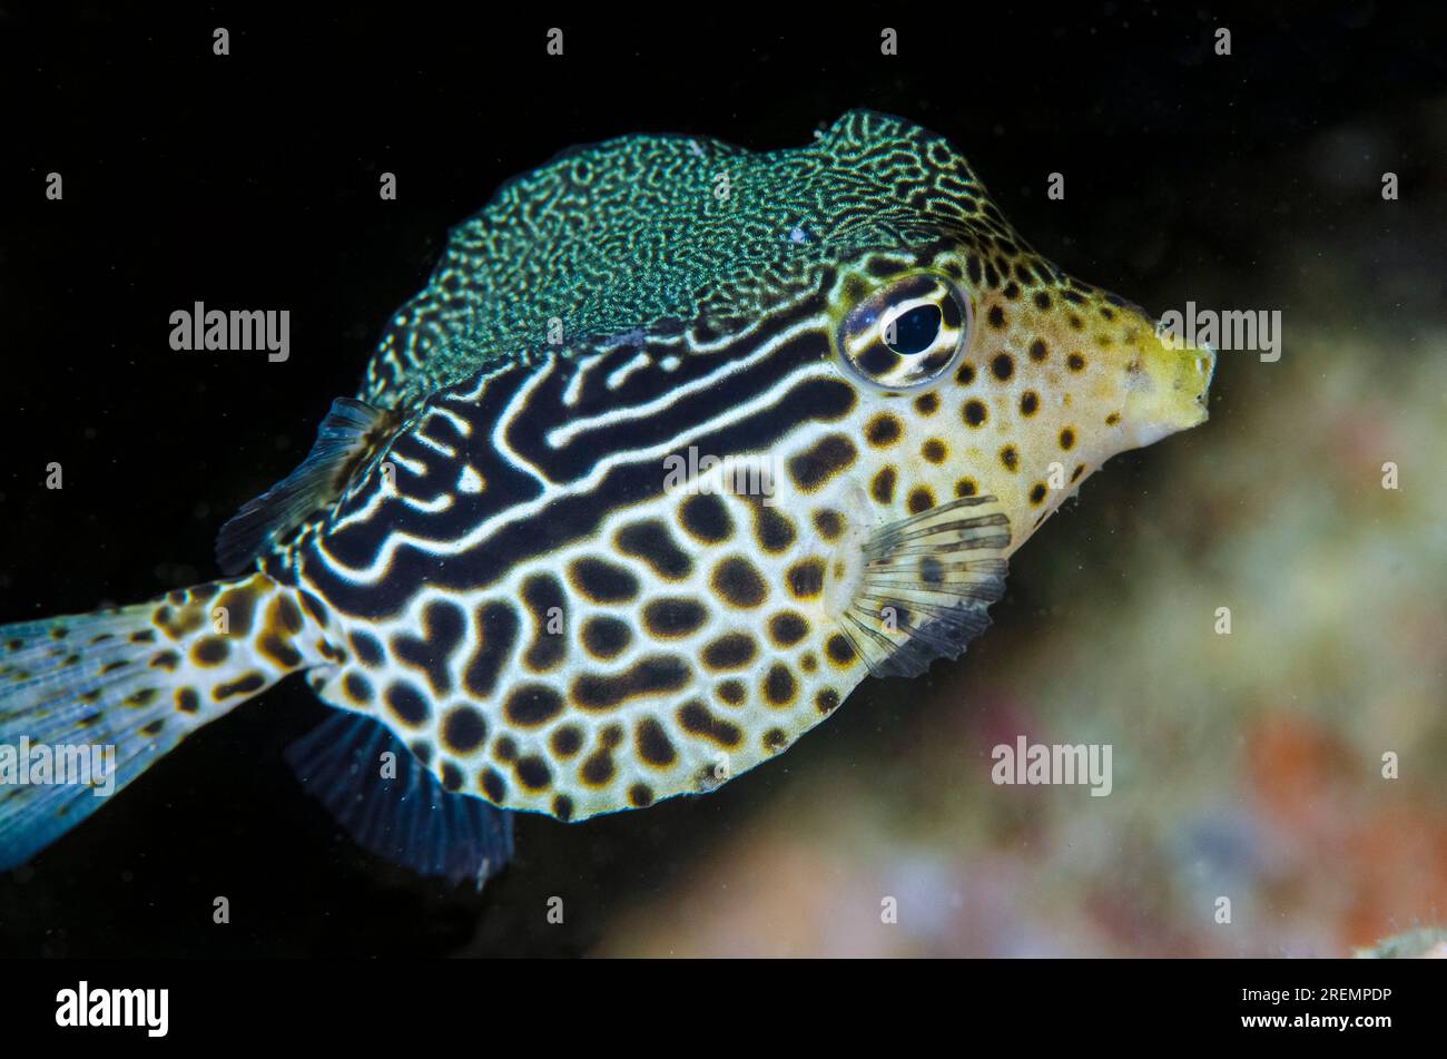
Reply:
M1283 159L1341 122L1391 123L1447 84L1433 6L907 4L784 16L737 4L518 20L245 9L129 22L0 16L0 622L210 579L217 527L305 453L352 394L447 230L505 178L574 143L687 132L774 149L857 106L948 135L1007 217L1068 272L1160 308L1194 272L1331 224L1310 182L1263 201ZM544 54L550 26L566 54ZM1213 55L1213 30L1233 55ZM230 30L230 55L211 30ZM880 55L893 26L900 55ZM1441 179L1396 159L1404 184ZM61 203L45 174L64 175ZM399 198L378 197L398 175ZM1064 203L1043 195L1064 171ZM1375 185L1340 195L1372 195ZM1425 218L1420 221L1425 224ZM1370 263L1363 265L1370 276ZM1269 278L1268 278L1269 279ZM1365 281L1366 282L1366 281ZM187 354L195 299L287 308L291 359ZM1229 379L1224 380L1229 385ZM65 488L43 488L45 466ZM1149 479L1152 454L1129 475ZM1088 522L1084 530L1088 531ZM1035 605L1029 551L996 621ZM291 681L198 733L29 868L0 880L7 955L574 953L806 755L888 752L915 707L873 683L789 757L708 799L577 828L522 819L485 894L366 856L307 799L282 748L326 716ZM211 900L232 926L211 926ZM567 900L550 927L544 901Z

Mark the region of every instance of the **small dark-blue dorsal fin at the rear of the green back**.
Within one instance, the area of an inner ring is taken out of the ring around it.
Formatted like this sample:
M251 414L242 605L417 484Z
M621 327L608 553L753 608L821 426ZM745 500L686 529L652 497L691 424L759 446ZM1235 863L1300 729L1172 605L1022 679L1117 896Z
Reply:
M396 412L352 398L331 402L307 459L281 482L247 501L216 537L216 558L226 573L237 573L260 553L331 503L352 472L395 430Z

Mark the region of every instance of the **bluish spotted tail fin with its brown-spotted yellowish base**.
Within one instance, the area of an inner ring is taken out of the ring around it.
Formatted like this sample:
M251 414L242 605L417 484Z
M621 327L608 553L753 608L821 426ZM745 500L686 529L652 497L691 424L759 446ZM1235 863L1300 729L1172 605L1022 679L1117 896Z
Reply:
M262 573L94 613L0 625L0 871L288 673L315 661Z

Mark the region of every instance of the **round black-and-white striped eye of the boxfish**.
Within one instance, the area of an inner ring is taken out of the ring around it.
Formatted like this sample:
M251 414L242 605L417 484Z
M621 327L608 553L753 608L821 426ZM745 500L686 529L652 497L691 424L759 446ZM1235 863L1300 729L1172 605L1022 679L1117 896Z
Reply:
M839 324L854 375L883 389L917 389L945 375L969 337L969 299L945 276L919 272L862 298Z

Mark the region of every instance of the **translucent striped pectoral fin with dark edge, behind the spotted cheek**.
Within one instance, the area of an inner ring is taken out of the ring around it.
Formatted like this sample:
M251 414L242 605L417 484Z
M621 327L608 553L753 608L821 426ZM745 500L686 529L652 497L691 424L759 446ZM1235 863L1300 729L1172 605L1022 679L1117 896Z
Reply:
M875 530L841 615L870 674L917 677L936 658L958 658L1004 595L1009 547L1010 519L994 496L965 496Z

